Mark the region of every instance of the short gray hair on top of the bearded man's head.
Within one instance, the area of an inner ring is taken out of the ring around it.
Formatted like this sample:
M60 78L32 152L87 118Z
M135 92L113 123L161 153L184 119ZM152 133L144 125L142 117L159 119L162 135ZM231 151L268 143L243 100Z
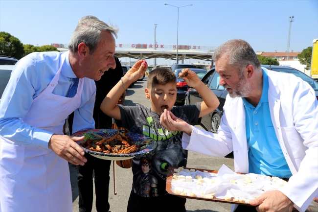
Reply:
M213 52L213 61L222 57L229 57L228 65L242 71L248 65L252 65L256 71L262 71L261 63L250 44L244 40L233 39L218 46Z

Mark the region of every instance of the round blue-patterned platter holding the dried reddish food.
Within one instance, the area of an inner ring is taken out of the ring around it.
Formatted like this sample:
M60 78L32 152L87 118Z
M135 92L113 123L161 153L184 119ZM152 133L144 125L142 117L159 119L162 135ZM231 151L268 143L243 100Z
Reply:
M104 138L110 138L110 137L114 137L118 133L125 134L125 136L127 137L131 137L132 142L138 147L138 150L136 152L128 153L128 154L124 154L124 153L114 154L114 153L103 153L103 152L93 151L93 150L85 148L83 145L84 142L87 140L96 141L96 140L101 140ZM136 155L147 154L150 151L154 150L157 145L156 141L151 139L150 137L147 137L139 133L130 132L127 130L91 129L91 130L83 130L83 131L74 133L71 136L75 136L75 137L85 136L84 141L77 142L82 147L85 153L89 153L96 158L100 158L104 160L112 160L112 161L122 161L122 160L134 158Z

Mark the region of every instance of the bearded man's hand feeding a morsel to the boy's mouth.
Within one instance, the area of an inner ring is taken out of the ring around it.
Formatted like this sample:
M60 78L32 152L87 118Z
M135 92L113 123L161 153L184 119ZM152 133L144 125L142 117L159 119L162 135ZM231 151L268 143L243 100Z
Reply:
M177 118L171 111L164 110L160 116L160 124L168 131L183 131L188 135L192 133L192 127L190 124Z

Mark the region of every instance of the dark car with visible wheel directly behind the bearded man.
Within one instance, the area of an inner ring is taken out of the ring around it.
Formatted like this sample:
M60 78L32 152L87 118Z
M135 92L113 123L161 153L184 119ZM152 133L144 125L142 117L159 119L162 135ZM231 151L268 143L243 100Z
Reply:
M318 99L318 83L304 74L301 71L298 71L294 68L291 67L286 67L286 66L270 66L270 65L261 65L262 67L272 70L272 71L278 71L278 72L283 72L283 73L292 73L295 76L301 78L302 80L306 81L316 92L316 96ZM220 120L221 117L223 116L223 106L225 103L225 99L227 96L227 91L226 89L219 84L220 80L220 75L218 72L215 71L215 68L213 67L210 69L205 76L202 78L202 81L211 89L211 91L219 98L220 105L219 107L214 110L212 113L209 113L202 117L201 124L203 127L212 132L216 133L218 131L218 128L220 126ZM190 88L188 92L185 94L185 101L184 104L194 104L196 102L202 102L203 99L201 98L201 95L198 94L198 92Z

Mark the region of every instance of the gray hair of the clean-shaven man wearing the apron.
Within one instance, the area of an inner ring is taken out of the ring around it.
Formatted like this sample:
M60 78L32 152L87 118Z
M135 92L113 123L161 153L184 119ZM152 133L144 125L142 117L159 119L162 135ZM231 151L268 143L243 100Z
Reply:
M81 18L70 36L69 51L75 53L78 45L85 43L90 49L90 54L93 54L99 43L102 31L110 32L117 38L118 27L114 27L111 23L106 24L95 16Z

